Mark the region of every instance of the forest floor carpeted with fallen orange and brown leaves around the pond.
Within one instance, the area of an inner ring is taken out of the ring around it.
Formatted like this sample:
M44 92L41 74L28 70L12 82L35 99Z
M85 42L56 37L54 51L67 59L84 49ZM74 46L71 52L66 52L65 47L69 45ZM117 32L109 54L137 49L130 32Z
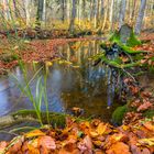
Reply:
M2 55L3 48L6 51L11 48L26 63L45 62L58 57L58 53L56 53L58 45L89 38L25 41L23 46L12 46L4 40L0 46L0 53ZM152 63L148 57L154 54L154 34L143 33L140 38L151 40L151 42L134 47L136 51L148 51L141 63ZM15 65L18 65L16 59L11 62L0 59L0 72ZM128 84L133 98L129 106L135 110L125 114L121 127L113 127L98 119L77 122L76 119L66 117L66 127L63 129L43 128L22 133L10 142L0 142L0 154L120 154L121 152L124 154L153 154L154 119L144 118L147 109L154 109L153 94L131 84L130 78L125 78L124 82Z

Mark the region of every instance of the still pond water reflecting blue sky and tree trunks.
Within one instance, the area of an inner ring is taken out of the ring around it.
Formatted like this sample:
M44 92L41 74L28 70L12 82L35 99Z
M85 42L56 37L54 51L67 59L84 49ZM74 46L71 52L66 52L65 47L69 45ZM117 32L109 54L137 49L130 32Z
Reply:
M69 43L58 46L63 59L55 61L53 66L46 66L47 96L50 110L56 112L70 112L73 107L85 110L85 116L101 117L109 121L112 111L119 106L114 99L114 84L111 70L102 65L92 67L88 61L90 56L101 52L99 41L85 41ZM26 65L28 75L31 79L35 74L33 65ZM36 66L36 69L42 67ZM19 67L13 74L23 82L23 76ZM41 75L44 73L42 72ZM35 92L35 82L31 85ZM19 109L31 109L28 98L21 96L20 90L13 85L11 75L0 79L0 116L13 112ZM107 110L107 108L110 109ZM45 107L42 107L45 110Z

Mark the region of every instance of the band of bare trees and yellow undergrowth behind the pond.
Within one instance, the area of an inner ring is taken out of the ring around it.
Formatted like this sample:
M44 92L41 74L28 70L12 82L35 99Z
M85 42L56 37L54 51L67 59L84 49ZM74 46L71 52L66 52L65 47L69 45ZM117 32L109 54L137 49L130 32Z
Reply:
M128 23L136 34L154 25L154 0L0 0L0 29L113 31Z

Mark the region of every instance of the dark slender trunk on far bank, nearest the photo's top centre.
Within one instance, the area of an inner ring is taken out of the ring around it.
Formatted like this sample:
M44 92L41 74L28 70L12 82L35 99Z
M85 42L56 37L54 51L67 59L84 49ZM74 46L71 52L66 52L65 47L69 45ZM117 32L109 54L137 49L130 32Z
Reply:
M70 19L70 24L69 24L69 32L70 33L73 33L75 30L76 2L77 2L77 0L73 0L72 19Z

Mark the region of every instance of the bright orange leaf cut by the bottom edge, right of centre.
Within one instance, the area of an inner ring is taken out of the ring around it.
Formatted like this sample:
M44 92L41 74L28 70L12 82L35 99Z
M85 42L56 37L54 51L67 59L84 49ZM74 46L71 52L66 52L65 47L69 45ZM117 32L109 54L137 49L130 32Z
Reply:
M106 151L107 154L131 154L129 151L129 146L123 142L117 142L112 144L109 150Z

